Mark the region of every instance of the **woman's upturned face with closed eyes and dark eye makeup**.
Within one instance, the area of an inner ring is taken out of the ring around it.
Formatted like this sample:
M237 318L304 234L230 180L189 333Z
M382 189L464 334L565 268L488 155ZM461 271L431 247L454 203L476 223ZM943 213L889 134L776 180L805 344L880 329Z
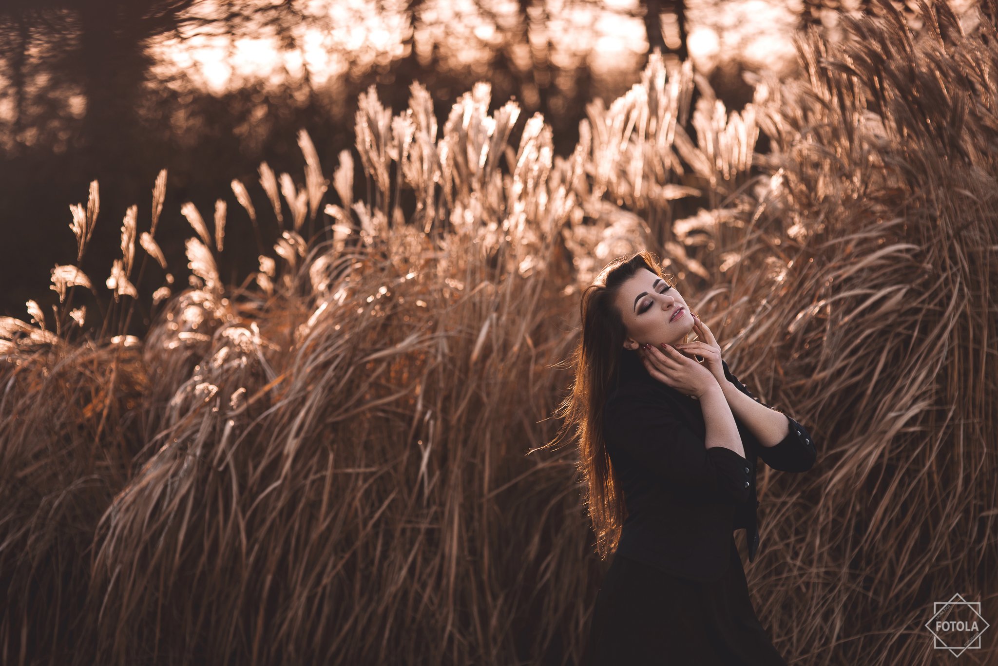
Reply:
M694 319L686 301L665 280L641 269L617 291L615 304L627 329L624 346L677 344L693 331Z

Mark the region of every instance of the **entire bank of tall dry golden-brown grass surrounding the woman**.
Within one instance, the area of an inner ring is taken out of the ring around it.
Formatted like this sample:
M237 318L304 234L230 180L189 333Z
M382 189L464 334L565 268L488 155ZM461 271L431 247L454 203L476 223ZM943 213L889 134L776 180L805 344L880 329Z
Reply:
M559 425L580 287L645 246L818 437L810 473L763 475L749 567L788 660L931 663L956 591L998 617L998 33L931 11L802 39L801 75L738 113L653 58L567 159L487 84L441 128L420 86L399 114L370 91L331 182L304 133L302 185L260 166L272 219L234 181L257 241L282 232L249 286L218 275L245 233L224 199L183 208L175 282L162 173L91 335L94 184L54 327L0 323L0 660L575 663L606 563L574 451L526 453ZM164 280L142 339L137 263Z

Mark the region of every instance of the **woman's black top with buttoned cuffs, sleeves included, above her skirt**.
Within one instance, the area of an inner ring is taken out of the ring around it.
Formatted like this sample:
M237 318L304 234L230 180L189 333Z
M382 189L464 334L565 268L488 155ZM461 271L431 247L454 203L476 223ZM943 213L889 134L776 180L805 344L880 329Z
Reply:
M722 364L739 390L761 402ZM794 472L810 469L816 457L807 430L787 419L789 434L762 446L736 416L745 457L725 446L707 448L700 401L650 375L638 352L624 349L603 421L628 509L617 554L685 578L717 580L729 566L732 532L744 528L752 561L756 456Z

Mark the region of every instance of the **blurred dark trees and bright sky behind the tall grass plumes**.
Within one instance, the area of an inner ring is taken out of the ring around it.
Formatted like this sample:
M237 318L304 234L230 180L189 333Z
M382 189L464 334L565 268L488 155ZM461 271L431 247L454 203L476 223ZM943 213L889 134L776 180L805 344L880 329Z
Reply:
M495 103L513 98L526 116L543 113L556 153L566 156L586 104L627 91L656 47L670 58L689 53L738 109L751 97L745 71L795 67L799 26L819 25L834 37L838 10L869 5L8 0L0 5L0 221L32 251L7 252L0 262L0 312L23 316L52 267L72 253L63 233L67 206L86 198L92 180L102 185L105 214L118 217L146 206L149 183L167 169L164 215L177 220L183 203L210 208L230 180L252 180L261 161L276 173L297 170L294 137L302 128L330 172L353 144L357 96L374 84L386 106L403 108L415 80L440 117L487 80ZM916 3L898 7L917 21ZM251 196L257 208L265 204ZM233 215L250 224L242 212ZM179 236L164 234L160 243L168 258L183 256ZM255 268L257 249L242 235L232 244L220 270L240 282ZM106 275L117 248L115 230L102 225L81 268ZM156 289L137 287L147 296ZM42 305L52 303L49 295ZM133 320L135 331L148 316Z

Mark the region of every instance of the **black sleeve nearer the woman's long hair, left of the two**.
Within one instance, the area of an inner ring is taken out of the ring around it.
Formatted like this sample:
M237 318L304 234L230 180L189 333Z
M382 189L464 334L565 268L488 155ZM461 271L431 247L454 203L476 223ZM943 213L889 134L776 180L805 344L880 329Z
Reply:
M604 438L690 499L749 499L749 461L725 446L705 446L654 396L632 393L611 399L604 412Z

